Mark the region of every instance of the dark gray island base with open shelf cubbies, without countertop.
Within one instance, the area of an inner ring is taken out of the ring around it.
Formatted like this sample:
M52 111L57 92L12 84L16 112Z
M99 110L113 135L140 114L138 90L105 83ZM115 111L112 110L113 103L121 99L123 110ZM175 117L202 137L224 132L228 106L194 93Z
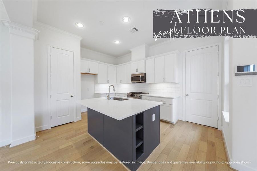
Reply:
M160 106L120 121L88 108L88 133L135 171L160 143Z

